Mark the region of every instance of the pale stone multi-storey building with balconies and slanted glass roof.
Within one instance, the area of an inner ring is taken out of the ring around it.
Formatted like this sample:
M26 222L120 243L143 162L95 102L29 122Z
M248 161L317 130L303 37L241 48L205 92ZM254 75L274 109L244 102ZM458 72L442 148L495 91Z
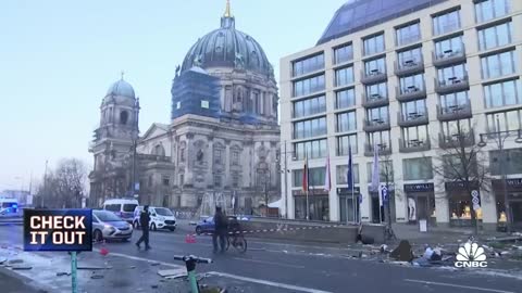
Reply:
M393 221L471 226L476 209L486 229L522 224L521 60L522 1L344 4L315 47L281 62L289 217L304 218L308 204L311 219L352 221L357 209L362 221L385 220L380 190L370 189L377 144ZM474 175L465 178L475 203L458 167L470 157L462 169Z

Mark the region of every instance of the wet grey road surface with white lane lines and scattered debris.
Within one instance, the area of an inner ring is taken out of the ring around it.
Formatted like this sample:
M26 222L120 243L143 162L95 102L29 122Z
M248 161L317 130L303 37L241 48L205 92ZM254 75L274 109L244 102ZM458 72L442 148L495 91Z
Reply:
M139 237L136 231L134 240ZM187 292L185 280L169 280L158 270L182 268L175 254L195 254L214 258L214 264L199 265L208 276L202 283L226 286L228 292L522 292L522 273L509 270L453 267L414 268L383 263L384 256L372 246L358 249L326 247L248 239L246 254L228 252L213 255L210 238L198 237L185 243L185 234L176 231L152 232L152 250L136 250L133 243L96 244L94 252L80 253L79 292ZM66 253L26 253L21 250L22 227L0 227L0 262L2 257L22 259L29 270L18 270L49 289L70 292L71 278ZM100 249L107 249L103 256ZM359 253L365 253L359 258ZM21 265L21 264L17 264ZM94 277L102 276L102 277ZM378 280L378 281L376 281ZM431 282L431 283L425 283Z

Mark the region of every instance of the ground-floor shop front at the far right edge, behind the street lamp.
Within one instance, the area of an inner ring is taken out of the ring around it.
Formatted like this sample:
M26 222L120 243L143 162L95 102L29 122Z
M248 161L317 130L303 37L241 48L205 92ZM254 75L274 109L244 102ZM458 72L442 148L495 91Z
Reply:
M502 226L508 220L504 180L493 180L493 191L497 204L498 224ZM522 228L522 178L506 179L506 193L508 194L510 222L515 228Z

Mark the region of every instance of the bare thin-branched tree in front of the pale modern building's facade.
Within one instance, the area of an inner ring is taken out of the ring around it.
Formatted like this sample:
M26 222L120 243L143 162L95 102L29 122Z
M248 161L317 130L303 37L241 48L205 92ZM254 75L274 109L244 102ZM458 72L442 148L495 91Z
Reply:
M440 155L437 160L440 164L436 164L433 169L440 176L440 184L450 182L461 187L470 196L470 201L473 190L488 190L489 171L483 163L484 160L480 157L481 149L474 143L473 130L462 129L460 120L457 120L456 132L451 137L440 136L439 145ZM476 234L478 220L474 208L471 208L471 219Z

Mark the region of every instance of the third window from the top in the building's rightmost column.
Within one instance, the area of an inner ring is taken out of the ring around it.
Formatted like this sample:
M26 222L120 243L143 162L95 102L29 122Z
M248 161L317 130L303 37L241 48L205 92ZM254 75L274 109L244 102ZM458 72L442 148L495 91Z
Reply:
M515 72L517 56L514 51L481 58L482 78L495 78Z

